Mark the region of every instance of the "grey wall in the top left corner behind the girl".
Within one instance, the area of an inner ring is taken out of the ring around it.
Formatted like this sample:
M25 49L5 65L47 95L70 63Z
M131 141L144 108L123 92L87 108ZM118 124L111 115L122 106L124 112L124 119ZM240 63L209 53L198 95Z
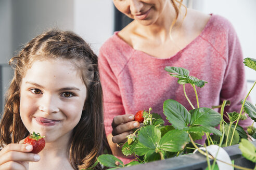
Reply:
M46 29L73 30L73 13L70 0L0 0L0 64L5 64L0 75L2 95L12 77L12 69L7 65L9 59ZM3 106L3 96L0 97Z

